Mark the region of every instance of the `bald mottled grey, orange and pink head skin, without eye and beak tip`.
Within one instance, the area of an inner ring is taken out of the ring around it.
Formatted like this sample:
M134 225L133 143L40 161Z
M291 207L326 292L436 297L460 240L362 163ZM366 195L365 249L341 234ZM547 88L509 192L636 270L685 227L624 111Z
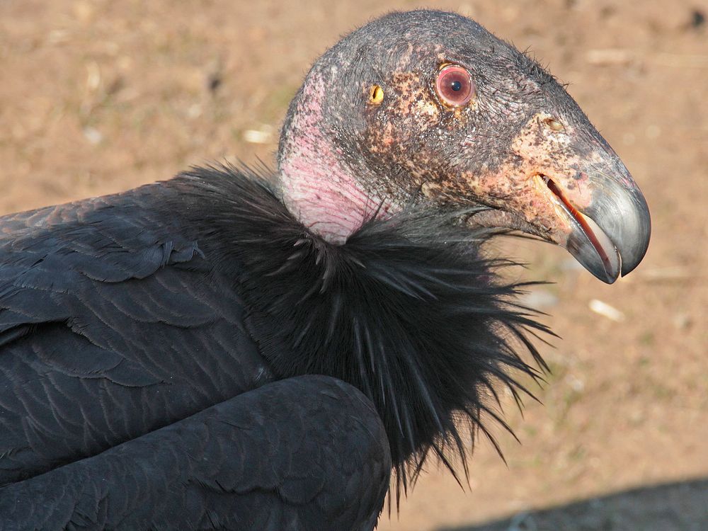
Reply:
M445 64L472 75L476 94L464 107L449 108L435 93ZM384 91L377 105L368 103L372 85ZM303 133L292 124L312 98L321 105L321 120L316 132ZM549 127L549 119L562 129ZM307 144L312 149L292 149ZM297 164L294 154L301 158ZM603 180L636 190L583 111L535 61L474 21L433 11L392 13L326 52L291 105L279 163L281 171L288 169L286 204L309 226L314 219L331 241L346 239L371 205L383 205L379 215L387 215L411 201L428 201L440 210L488 205L497 212L480 215L479 222L565 244L577 227L544 179L581 210L595 200ZM308 173L308 164L318 170ZM331 169L331 178L321 169ZM309 184L292 185L296 181ZM340 200L325 209L314 207L312 197L287 195L293 188L328 187ZM337 208L359 210L341 215ZM338 219L317 221L321 216Z

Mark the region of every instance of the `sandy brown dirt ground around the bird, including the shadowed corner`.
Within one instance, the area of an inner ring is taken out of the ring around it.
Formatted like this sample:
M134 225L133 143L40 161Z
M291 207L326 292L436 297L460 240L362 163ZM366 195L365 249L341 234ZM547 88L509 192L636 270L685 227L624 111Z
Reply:
M670 5L670 7L668 7ZM705 0L0 0L0 214L125 190L212 160L273 159L309 64L392 9L446 8L530 47L649 202L644 263L607 286L508 241L563 337L521 440L469 489L433 467L380 530L708 530ZM597 313L603 302L617 314Z

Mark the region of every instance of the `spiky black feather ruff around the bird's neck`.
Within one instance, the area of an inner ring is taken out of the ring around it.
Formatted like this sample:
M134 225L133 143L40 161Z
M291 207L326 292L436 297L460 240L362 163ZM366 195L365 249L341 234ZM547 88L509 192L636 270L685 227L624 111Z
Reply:
M204 202L188 209L205 215L198 223L210 236L200 246L220 270L234 270L275 375L331 375L367 394L386 426L399 487L431 453L466 475L476 435L490 435L484 421L506 426L495 384L518 399L525 389L509 370L538 375L515 348L542 365L525 336L544 328L510 300L520 285L498 277L506 262L481 253L494 232L417 207L334 245L255 176L197 170L177 181L193 188L183 198Z

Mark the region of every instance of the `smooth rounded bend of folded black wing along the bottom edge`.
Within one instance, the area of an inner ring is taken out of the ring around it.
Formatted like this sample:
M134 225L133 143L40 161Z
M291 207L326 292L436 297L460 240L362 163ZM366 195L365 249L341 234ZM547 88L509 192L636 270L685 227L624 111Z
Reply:
M342 452L348 459L339 459ZM390 469L370 401L341 380L303 376L5 486L0 523L3 529L370 530Z

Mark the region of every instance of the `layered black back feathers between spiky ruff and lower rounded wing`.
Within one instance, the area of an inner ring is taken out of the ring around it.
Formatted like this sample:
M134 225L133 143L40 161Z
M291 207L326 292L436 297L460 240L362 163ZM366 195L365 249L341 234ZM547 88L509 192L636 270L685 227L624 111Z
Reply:
M268 380L168 184L0 218L0 485Z

